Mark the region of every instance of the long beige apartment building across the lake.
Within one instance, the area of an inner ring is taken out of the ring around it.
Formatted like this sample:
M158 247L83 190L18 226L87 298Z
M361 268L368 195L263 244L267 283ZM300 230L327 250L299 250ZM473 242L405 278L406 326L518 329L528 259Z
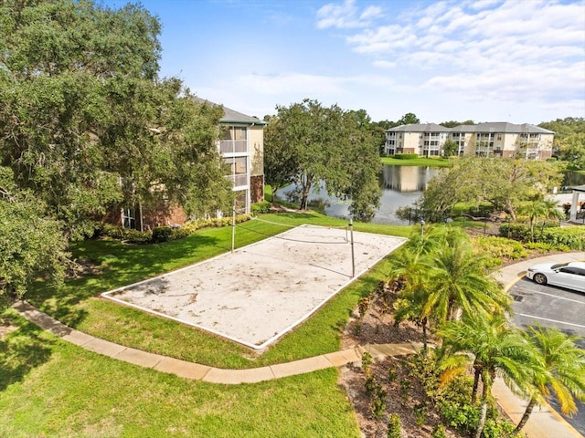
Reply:
M552 156L555 133L527 123L479 123L445 128L435 123L400 125L386 130L385 152L440 156L445 141L457 144L457 155L523 157L546 160Z

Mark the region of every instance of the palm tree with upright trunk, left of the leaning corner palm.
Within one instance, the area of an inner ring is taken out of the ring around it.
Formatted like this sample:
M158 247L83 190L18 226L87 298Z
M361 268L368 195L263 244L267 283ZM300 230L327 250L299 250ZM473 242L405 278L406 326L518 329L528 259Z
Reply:
M475 376L473 397L480 379L482 381L480 419L473 434L474 438L480 438L495 376L500 375L514 391L527 393L531 376L542 370L542 363L536 349L502 315L476 315L450 321L439 330L439 334L443 337L443 349L447 354L441 362L444 370L441 382L444 384L462 374L470 363Z

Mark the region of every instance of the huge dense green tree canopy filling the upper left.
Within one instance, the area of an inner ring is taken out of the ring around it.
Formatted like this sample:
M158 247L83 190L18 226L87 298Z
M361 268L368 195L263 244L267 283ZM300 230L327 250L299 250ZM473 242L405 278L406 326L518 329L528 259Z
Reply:
M159 33L140 5L2 2L4 211L36 204L31 214L70 237L116 203L165 200L201 214L229 201L216 146L222 109L158 77ZM37 231L49 238L49 228Z

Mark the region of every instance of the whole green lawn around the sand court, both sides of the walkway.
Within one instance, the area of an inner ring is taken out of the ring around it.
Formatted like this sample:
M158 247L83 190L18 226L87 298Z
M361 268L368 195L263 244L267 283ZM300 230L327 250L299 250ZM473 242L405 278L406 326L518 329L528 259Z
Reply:
M323 214L268 214L241 224L237 245L288 229L269 224L344 225ZM356 230L409 235L410 227L356 224ZM233 342L102 299L114 287L228 251L231 230L199 230L184 240L124 245L109 239L72 245L101 275L43 283L27 295L71 327L127 346L223 368L249 368L339 349L340 332L359 297L388 272L383 260L299 328L258 356ZM237 386L186 381L80 349L7 311L19 328L0 339L0 436L11 437L358 437L355 414L337 386L337 370Z

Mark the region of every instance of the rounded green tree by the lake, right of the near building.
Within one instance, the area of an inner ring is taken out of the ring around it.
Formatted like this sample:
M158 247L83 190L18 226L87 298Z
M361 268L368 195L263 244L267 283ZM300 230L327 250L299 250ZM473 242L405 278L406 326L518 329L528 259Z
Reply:
M312 99L277 107L265 130L266 183L294 183L301 209L311 189L324 183L328 193L352 199L350 213L368 219L378 207L378 145L366 111L324 108Z

